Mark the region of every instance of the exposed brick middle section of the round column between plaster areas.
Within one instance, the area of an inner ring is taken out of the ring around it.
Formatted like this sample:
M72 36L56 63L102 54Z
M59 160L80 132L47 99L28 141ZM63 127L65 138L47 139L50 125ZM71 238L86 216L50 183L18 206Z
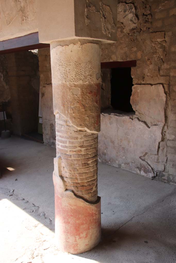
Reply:
M56 154L67 190L91 202L97 200L98 134L78 130L62 115L56 115Z

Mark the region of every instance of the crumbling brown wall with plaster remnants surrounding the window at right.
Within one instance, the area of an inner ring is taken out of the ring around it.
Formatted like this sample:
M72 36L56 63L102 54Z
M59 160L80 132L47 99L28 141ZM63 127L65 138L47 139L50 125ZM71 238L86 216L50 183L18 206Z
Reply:
M176 183L176 2L118 1L117 39L102 61L131 69L135 115L101 115L99 160Z

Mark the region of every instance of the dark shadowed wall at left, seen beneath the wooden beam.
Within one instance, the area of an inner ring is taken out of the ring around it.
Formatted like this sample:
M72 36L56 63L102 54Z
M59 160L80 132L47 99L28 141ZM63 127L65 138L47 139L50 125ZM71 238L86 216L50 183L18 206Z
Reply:
M6 55L11 94L13 134L37 131L39 112L39 64L30 51Z

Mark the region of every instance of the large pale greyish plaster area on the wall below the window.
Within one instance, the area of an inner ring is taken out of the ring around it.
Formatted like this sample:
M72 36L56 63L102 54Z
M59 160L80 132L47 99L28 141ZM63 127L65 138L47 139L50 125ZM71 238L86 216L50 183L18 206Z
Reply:
M144 176L154 176L153 167L150 165L152 160L148 159L150 154L157 159L162 128L163 125L154 125L149 129L139 119L132 120L130 116L101 114L99 160ZM141 157L145 153L149 154L146 159ZM157 165L163 169L164 163Z

